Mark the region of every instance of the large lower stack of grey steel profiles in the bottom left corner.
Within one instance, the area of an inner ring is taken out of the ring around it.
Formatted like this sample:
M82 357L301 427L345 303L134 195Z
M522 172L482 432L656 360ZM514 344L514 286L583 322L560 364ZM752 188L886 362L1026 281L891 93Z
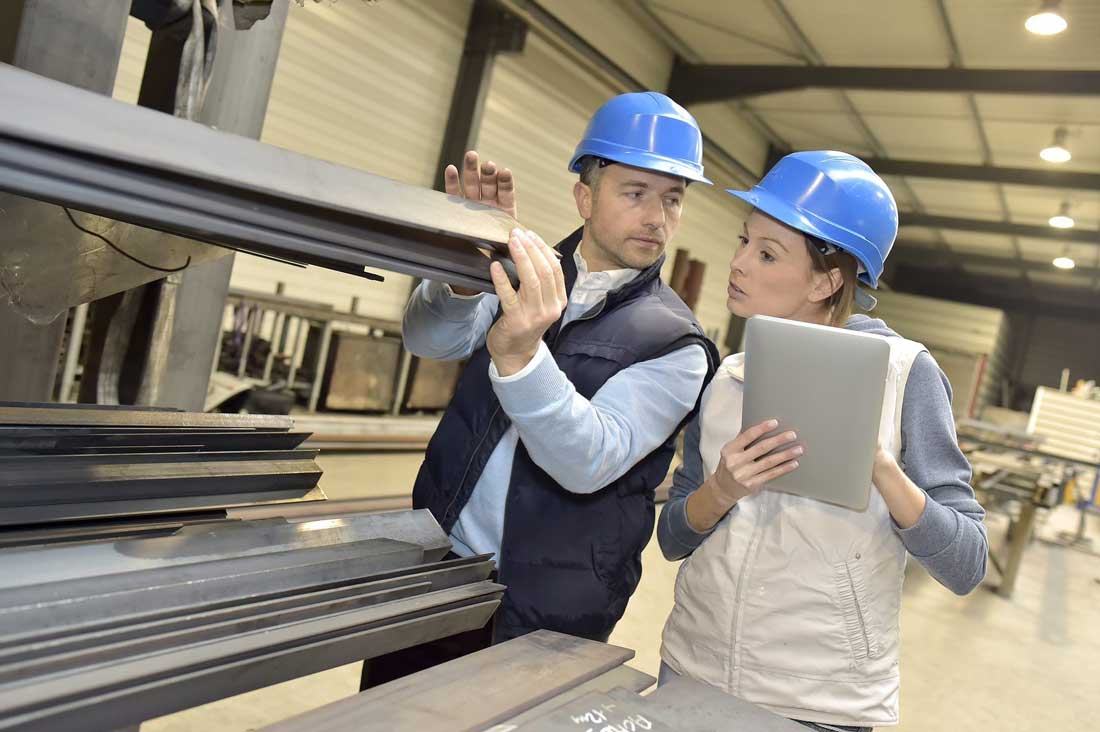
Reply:
M0 730L109 730L482 627L428 512L0 551Z

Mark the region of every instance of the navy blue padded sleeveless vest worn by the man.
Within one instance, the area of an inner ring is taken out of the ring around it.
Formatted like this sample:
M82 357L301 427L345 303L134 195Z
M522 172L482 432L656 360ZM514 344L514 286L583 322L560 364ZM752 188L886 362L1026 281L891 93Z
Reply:
M580 239L578 230L558 247L570 292ZM704 348L707 380L713 375L717 350L661 282L662 262L608 293L602 307L547 331L554 361L585 398L623 369L690 343ZM429 509L448 533L510 424L488 365L484 347L471 356L413 489L414 506ZM675 434L618 480L584 495L561 488L519 443L505 505L498 571L508 589L496 616L497 641L539 629L606 641L641 579L641 550L653 532L653 489L668 473L674 443Z

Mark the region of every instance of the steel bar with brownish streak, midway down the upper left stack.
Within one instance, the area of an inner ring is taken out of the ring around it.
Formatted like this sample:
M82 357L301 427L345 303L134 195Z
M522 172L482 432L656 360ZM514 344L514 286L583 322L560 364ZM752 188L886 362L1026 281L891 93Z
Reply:
M315 450L0 457L0 506L308 491Z

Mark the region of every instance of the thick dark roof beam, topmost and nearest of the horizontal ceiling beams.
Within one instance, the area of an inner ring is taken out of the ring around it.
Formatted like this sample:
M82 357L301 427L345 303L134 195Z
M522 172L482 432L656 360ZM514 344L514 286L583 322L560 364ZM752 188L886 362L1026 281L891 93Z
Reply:
M669 94L695 105L805 88L1100 96L1100 72L678 63Z

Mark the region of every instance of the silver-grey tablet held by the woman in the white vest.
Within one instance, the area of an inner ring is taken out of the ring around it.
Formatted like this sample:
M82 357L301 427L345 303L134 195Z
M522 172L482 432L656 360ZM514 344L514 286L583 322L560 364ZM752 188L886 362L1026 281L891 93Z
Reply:
M889 363L881 336L749 318L741 429L778 419L772 434L793 429L805 447L799 469L769 488L867 509Z

